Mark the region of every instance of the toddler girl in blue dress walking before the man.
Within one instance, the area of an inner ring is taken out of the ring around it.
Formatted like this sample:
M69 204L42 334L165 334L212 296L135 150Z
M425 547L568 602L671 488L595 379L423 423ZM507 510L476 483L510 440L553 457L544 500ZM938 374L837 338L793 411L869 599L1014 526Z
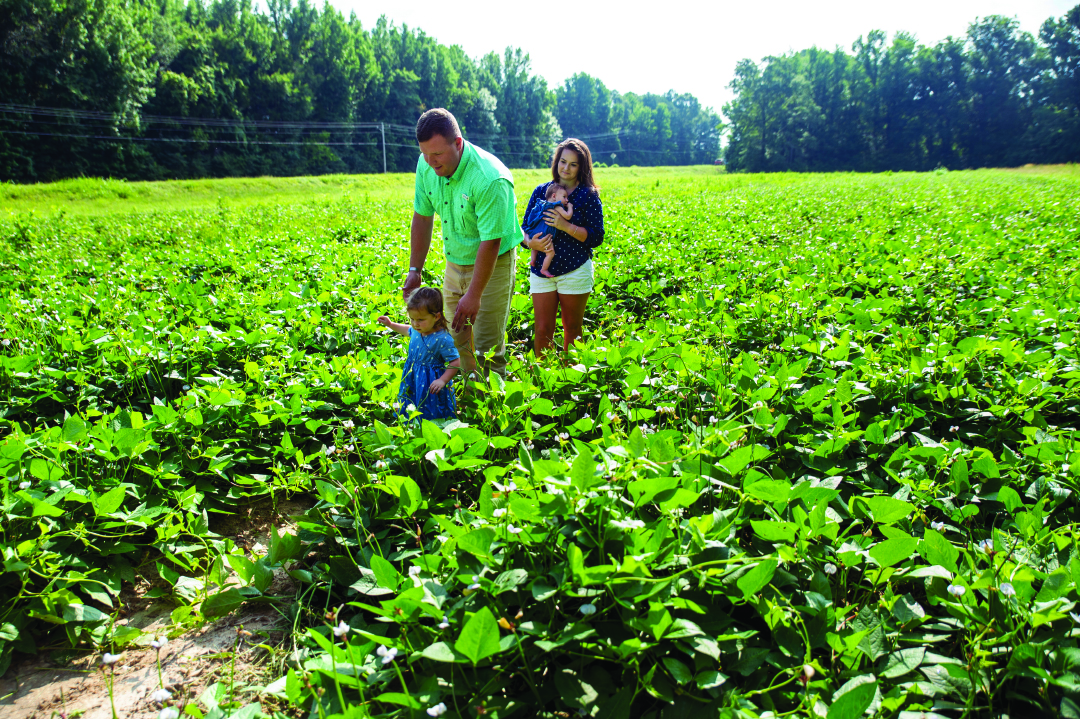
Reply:
M392 322L382 315L378 322L399 335L408 336L408 357L402 370L397 392L399 413L415 405L423 419L449 419L457 416L450 380L460 361L443 316L443 294L434 287L418 287L405 304L410 325ZM445 391L444 391L445 390Z

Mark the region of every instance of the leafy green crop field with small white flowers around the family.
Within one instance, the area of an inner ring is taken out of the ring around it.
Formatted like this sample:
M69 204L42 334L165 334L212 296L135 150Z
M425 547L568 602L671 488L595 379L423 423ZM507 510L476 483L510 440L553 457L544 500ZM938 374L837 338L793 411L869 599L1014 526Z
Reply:
M599 182L585 341L519 257L445 425L375 322L411 176L4 186L0 674L152 655L139 584L287 627L191 717L1080 716L1076 168Z

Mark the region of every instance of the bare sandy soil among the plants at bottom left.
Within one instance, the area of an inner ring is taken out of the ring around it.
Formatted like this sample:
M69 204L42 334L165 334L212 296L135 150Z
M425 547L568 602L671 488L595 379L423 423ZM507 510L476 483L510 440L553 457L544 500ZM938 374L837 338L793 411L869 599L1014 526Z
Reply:
M213 530L231 537L241 546L265 553L270 527L294 531L289 517L312 502L303 498L279 502L269 500L232 517L225 517ZM271 594L287 596L293 587L282 572L275 576ZM127 594L118 624L138 627L148 635L175 634L170 626L175 605L144 600L140 593ZM207 687L219 682L233 688L230 698L257 701L257 688L269 682L280 667L268 665L267 647L279 647L288 637L281 615L272 607L241 608L215 622L174 637L161 650L161 681L173 693L170 706L178 709L195 702ZM0 678L0 719L112 719L108 681L100 654L71 651L42 654L13 665ZM150 695L161 684L158 652L149 647L129 648L113 666L112 704L120 719L151 719L162 705ZM252 689L248 689L248 688ZM270 697L271 703L273 698ZM205 706L200 706L205 711Z

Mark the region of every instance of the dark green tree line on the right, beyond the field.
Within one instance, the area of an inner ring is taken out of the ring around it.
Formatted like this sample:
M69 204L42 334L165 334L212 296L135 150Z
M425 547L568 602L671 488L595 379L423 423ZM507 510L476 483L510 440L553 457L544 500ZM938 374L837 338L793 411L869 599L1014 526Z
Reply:
M1038 39L988 16L933 46L906 32L744 59L729 169L885 171L1080 161L1080 5Z

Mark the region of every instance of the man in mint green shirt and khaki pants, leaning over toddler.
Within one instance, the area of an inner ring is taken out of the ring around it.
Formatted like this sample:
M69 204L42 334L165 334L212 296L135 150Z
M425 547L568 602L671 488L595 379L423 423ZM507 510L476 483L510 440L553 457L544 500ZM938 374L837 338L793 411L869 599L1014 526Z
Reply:
M416 194L409 235L409 270L402 294L420 286L438 213L446 275L443 303L450 334L468 375L477 356L485 374L507 371L507 321L522 241L514 178L498 158L461 137L447 110L428 110L416 123L422 155L416 164Z

